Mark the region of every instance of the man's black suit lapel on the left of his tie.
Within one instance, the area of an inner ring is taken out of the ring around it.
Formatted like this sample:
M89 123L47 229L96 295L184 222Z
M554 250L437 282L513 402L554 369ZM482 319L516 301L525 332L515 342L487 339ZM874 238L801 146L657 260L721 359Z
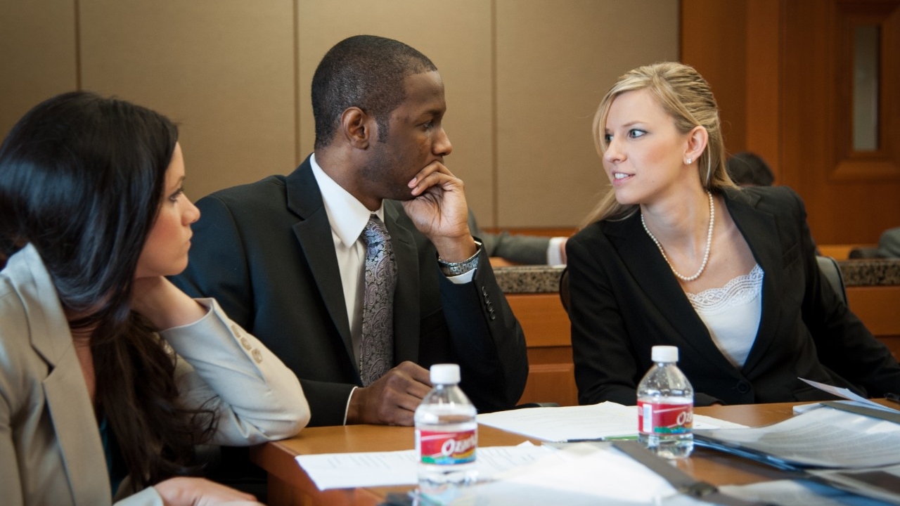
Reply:
M285 178L285 185L288 209L301 218L301 221L293 225L293 233L300 242L331 321L344 341L347 357L351 363L356 364L350 322L347 321L347 303L340 283L338 257L331 237L331 224L328 213L325 212L319 184L312 175L310 158L303 160L301 166Z

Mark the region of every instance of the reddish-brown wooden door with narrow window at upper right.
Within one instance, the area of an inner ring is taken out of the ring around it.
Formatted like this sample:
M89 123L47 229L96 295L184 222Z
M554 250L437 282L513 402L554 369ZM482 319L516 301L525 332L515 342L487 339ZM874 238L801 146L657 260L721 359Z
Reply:
M782 183L819 243L876 242L900 226L900 1L788 0L781 44ZM853 149L855 27L880 32L877 149Z

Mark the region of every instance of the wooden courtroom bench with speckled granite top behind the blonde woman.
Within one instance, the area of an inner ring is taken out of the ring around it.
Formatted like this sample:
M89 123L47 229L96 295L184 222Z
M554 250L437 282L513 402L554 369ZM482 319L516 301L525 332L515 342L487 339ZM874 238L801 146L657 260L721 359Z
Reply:
M851 310L900 357L900 260L839 260ZM528 382L520 402L578 404L569 317L559 298L562 267L496 267L528 347Z

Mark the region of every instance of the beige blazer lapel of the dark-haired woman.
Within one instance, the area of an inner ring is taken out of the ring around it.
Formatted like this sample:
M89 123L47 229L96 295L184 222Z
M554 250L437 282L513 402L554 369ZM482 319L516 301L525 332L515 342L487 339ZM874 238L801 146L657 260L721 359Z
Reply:
M31 347L44 358L50 371L42 382L44 398L69 489L78 491L73 493L73 499L76 505L82 506L109 504L107 474L97 473L92 465L85 465L85 462L105 462L106 458L72 333L58 303L56 289L31 245L11 258L10 264L17 270L14 276L23 279L20 289L31 327Z

